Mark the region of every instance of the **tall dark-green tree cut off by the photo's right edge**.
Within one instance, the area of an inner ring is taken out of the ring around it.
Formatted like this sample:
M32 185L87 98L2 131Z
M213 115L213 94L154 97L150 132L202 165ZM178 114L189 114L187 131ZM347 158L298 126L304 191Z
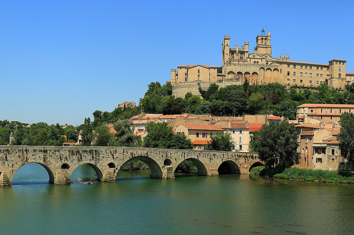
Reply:
M341 153L348 162L354 162L354 114L344 112L341 115L341 129L337 136Z

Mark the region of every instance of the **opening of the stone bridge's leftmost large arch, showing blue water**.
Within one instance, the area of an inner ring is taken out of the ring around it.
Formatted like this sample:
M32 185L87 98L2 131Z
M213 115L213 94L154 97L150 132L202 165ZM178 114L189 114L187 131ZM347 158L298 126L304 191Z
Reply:
M48 180L49 178L49 180ZM41 163L28 163L18 168L10 178L12 185L54 183L52 170Z

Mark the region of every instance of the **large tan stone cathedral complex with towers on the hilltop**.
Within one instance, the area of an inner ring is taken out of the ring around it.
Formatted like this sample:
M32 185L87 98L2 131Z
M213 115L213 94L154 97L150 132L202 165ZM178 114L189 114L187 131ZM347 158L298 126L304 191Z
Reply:
M270 32L256 37L254 51L249 50L249 41L232 48L230 36L224 36L222 43L222 73L216 66L186 65L171 70L172 93L184 97L188 91L199 94L198 86L203 89L210 83L219 87L242 84L245 79L250 83L280 83L284 86L318 86L326 84L336 89L344 89L346 82L346 61L332 59L326 64L291 61L289 55L272 56ZM348 74L349 75L349 74ZM350 81L351 82L351 81Z

